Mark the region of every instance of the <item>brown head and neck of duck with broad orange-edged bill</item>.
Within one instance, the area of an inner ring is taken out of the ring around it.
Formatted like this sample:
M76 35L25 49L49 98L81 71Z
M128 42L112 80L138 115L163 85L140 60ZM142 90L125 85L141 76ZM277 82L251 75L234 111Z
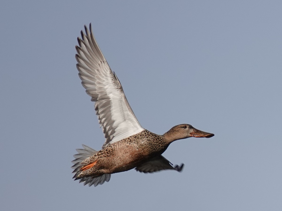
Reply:
M183 138L189 138L189 137L210 138L213 136L214 134L212 133L200 131L194 128L192 125L188 125L188 124L176 125L164 134L164 137L171 141L175 141Z

